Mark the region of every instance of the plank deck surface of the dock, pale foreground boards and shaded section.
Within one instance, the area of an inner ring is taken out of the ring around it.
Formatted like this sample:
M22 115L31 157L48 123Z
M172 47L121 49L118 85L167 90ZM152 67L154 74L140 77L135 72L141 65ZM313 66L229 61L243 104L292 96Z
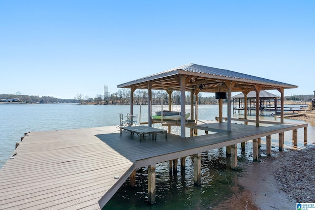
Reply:
M99 209L136 168L302 128L208 123L211 135L140 142L116 126L31 132L0 169L0 209ZM207 128L208 126L208 128ZM211 131L211 130L210 130ZM114 179L115 176L120 179Z

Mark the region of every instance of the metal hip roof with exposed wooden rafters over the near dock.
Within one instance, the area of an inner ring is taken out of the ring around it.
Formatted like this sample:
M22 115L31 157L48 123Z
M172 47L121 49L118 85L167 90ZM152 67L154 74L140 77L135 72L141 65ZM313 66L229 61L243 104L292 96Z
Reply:
M151 83L152 90L180 90L179 78L181 76L186 78L186 91L198 90L200 85L202 85L202 90L200 89L200 91L203 92L226 91L225 81L232 81L232 91L253 90L255 85L259 85L261 90L297 88L295 85L275 80L194 63L171 68L167 71L118 85L117 87L147 89L148 84Z

